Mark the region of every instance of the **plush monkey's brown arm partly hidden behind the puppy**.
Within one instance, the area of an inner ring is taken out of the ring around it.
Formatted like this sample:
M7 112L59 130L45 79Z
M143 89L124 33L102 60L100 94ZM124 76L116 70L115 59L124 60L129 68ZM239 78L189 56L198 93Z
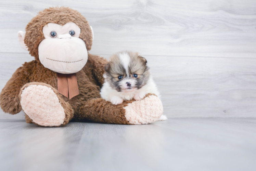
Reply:
M107 60L103 57L97 55L91 55L88 53L88 65L91 65L92 68L91 73L95 80L97 81L97 85L102 87L104 83L103 74L105 72L105 65L107 64Z

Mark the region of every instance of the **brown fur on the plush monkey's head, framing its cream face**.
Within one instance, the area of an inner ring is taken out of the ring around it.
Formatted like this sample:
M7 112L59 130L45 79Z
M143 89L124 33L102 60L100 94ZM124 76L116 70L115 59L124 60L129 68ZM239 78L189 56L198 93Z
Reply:
M85 42L87 51L91 50L93 35L86 18L78 11L67 7L52 7L40 11L26 26L24 42L29 54L39 61L38 46L45 39L42 30L46 24L55 23L63 26L69 22L75 23L81 29L79 38Z

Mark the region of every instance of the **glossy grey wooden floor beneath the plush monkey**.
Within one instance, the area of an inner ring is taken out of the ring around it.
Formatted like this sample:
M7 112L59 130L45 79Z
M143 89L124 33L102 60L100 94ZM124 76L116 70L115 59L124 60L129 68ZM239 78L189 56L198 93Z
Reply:
M173 118L148 125L72 122L42 128L0 115L1 170L247 170L255 118Z

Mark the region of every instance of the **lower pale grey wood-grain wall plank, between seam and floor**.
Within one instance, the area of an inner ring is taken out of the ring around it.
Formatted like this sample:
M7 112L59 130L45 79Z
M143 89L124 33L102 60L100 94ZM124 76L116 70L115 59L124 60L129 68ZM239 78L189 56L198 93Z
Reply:
M0 55L2 89L16 68L33 57ZM256 117L256 59L142 56L151 68L168 117Z

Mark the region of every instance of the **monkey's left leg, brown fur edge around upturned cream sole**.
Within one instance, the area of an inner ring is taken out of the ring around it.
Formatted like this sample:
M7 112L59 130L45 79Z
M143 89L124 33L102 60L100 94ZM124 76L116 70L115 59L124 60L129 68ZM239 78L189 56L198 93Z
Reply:
M74 110L56 89L45 83L31 82L23 86L20 102L28 123L40 126L63 126L72 119Z

